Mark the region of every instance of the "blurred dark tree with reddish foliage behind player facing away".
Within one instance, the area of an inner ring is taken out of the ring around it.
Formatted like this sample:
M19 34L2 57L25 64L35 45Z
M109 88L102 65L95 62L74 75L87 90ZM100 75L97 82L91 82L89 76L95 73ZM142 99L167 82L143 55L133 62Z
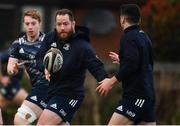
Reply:
M180 61L180 1L148 0L142 7L142 25L153 41L158 61Z

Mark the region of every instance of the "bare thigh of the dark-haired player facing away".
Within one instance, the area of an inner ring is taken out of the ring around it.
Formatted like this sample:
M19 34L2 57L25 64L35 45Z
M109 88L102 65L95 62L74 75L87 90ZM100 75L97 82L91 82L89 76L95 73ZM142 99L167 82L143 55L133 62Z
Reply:
M108 125L131 125L133 121L129 120L127 117L114 112Z

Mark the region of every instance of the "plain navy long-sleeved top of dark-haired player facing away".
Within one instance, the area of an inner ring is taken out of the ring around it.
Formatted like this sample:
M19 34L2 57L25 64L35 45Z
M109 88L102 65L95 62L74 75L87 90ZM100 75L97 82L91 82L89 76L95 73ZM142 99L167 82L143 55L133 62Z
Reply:
M119 58L120 69L116 78L122 81L123 94L154 100L152 45L139 26L124 30Z

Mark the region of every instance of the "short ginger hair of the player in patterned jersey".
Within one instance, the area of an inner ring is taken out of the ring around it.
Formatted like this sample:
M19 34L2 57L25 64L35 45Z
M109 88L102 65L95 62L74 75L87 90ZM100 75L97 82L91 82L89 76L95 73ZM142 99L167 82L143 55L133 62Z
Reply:
M23 21L24 21L24 17L25 16L30 16L33 19L38 20L39 22L41 22L41 15L37 10L27 10L24 12L24 16L23 16Z

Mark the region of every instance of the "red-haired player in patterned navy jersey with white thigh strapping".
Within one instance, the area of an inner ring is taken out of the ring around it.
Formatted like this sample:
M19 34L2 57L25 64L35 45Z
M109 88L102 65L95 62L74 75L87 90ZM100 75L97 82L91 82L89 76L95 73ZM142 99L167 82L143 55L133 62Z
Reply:
M14 75L19 68L25 67L32 84L29 95L15 115L15 124L33 123L46 107L48 81L44 73L36 67L36 55L45 37L45 34L40 32L40 24L41 17L38 11L26 11L23 16L25 34L15 40L9 50L8 73Z

